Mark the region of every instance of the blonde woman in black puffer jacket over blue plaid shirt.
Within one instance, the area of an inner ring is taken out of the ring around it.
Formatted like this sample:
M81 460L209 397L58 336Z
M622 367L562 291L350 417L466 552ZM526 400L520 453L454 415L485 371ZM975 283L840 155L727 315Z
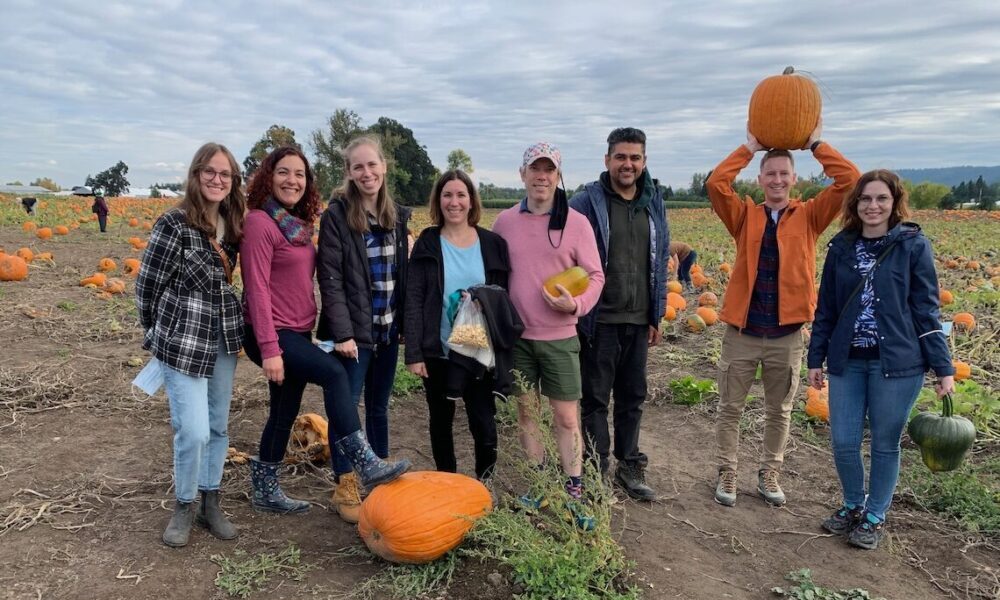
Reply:
M322 300L316 336L334 342L355 403L364 388L365 433L381 458L389 456L410 218L390 196L386 170L376 139L360 137L344 149L344 184L320 219L316 264ZM351 463L336 450L332 462L338 481L332 502L341 518L356 523L361 497Z

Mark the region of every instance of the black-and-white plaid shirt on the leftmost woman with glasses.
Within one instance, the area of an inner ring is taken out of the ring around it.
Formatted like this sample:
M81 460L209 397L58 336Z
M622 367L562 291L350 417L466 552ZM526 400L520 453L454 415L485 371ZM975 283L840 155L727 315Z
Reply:
M230 264L237 249L223 242ZM135 284L142 347L167 366L192 377L211 377L219 336L229 354L243 344L243 311L226 282L222 260L208 237L190 227L184 212L157 219Z

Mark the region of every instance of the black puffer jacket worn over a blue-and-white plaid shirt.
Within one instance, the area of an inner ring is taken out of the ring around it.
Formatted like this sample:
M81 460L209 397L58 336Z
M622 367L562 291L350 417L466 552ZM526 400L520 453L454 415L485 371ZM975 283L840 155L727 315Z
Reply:
M374 347L372 336L372 280L364 235L347 223L347 205L334 198L319 222L316 278L322 308L316 337L344 342L353 339L361 348ZM410 209L396 207L396 331L403 331L408 244L406 225Z

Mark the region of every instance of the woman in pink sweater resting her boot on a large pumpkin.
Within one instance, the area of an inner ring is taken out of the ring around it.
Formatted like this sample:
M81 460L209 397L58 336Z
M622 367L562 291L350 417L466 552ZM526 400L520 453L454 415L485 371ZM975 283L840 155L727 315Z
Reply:
M250 459L255 510L298 513L304 500L289 498L278 485L278 468L306 383L323 388L331 431L343 432L337 447L350 459L361 482L372 487L392 481L409 461L379 458L361 432L347 372L339 360L312 342L316 324L312 236L320 214L319 193L302 151L283 146L269 154L250 181L240 245L247 356L264 369L271 396L259 456Z

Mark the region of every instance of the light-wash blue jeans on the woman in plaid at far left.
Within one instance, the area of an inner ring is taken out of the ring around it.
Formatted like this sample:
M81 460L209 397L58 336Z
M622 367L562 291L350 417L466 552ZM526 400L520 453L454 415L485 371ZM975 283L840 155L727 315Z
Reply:
M198 490L217 490L229 449L229 402L236 355L220 338L211 377L192 377L163 365L174 430L174 495L194 502Z

